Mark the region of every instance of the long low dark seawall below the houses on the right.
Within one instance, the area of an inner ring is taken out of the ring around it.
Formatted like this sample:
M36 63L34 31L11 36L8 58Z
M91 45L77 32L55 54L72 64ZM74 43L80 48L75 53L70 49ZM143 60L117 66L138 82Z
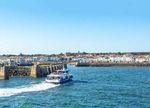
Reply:
M75 64L77 67L81 66L97 66L97 67L109 67L109 66L139 66L139 67L150 67L149 63L79 63Z

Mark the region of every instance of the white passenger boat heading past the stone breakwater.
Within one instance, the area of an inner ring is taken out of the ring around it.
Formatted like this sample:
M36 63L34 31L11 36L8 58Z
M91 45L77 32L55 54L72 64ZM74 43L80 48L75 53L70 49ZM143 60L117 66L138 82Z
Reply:
M62 84L72 81L72 78L73 76L69 73L68 69L62 69L47 75L45 81L48 83Z

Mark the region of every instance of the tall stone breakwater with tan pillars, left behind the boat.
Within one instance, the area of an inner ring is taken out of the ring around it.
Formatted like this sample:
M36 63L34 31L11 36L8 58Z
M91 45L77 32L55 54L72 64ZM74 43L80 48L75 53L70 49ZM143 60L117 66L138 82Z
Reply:
M8 80L13 76L46 77L57 70L67 68L64 63L40 63L32 66L1 66L0 79Z

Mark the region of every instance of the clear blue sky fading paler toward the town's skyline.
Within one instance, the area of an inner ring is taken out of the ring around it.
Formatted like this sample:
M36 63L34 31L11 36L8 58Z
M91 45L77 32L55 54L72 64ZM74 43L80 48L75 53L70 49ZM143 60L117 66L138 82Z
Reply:
M0 54L150 51L150 0L0 0Z

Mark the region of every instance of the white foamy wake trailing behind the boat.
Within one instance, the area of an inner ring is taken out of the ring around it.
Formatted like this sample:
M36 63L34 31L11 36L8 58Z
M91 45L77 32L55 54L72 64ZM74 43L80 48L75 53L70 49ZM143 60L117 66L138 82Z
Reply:
M0 88L0 97L9 97L12 95L33 92L33 91L42 91L50 88L57 87L59 85L42 82L39 84L32 84L30 86L16 87L16 88Z

